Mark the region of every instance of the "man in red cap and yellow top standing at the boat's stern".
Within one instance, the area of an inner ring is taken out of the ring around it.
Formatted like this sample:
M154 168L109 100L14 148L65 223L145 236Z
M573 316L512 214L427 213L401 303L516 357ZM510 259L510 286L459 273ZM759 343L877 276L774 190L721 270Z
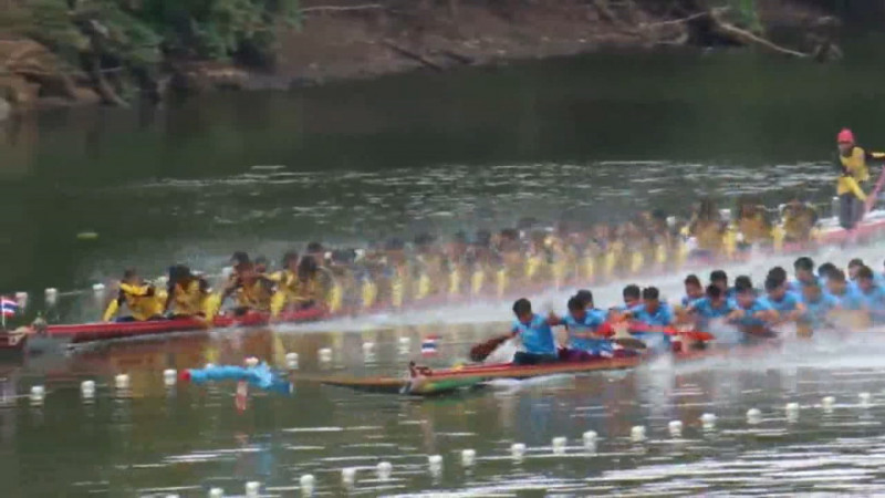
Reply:
M836 135L839 144L839 159L836 166L842 173L836 181L839 196L839 224L848 230L854 228L864 216L864 194L861 185L870 179L867 160L883 160L884 153L868 153L854 143L854 134L848 128L843 128Z

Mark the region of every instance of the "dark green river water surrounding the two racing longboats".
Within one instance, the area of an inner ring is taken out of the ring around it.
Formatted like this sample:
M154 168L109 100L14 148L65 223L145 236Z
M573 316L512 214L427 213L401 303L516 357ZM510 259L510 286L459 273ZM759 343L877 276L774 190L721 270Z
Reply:
M0 136L0 289L29 291L30 317L43 289L59 288L59 320L92 320L98 308L79 292L129 266L214 271L237 249L278 258L310 240L358 246L523 216L617 220L679 211L704 194L826 201L835 132L847 125L881 143L885 91L867 61L593 55L159 110L48 112ZM97 238L76 237L84 231ZM879 251L819 260L878 264ZM789 262L733 271L759 277ZM655 283L676 298L680 277ZM615 301L623 283L594 289L597 301ZM564 297L535 298L559 308ZM281 364L287 352L305 373L398 373L430 333L441 338L431 362L451 364L499 333L507 310L485 303L4 361L3 495L242 495L259 481L263 494L298 496L306 474L326 496L868 495L883 485L885 341L874 335L428 401L298 383L290 397L252 393L239 409L231 385L163 382L164 369L247 354ZM368 362L365 342L376 344ZM333 350L332 365L319 364L321 347ZM123 394L119 373L132 377ZM83 380L97 384L93 402L80 398ZM31 406L37 384L45 402ZM799 403L798 418L788 419L787 403ZM746 422L750 408L761 423ZM712 430L701 428L704 413L718 417ZM670 421L683 422L681 437L668 434ZM629 440L635 425L646 442ZM592 452L586 430L598 434ZM554 437L568 438L564 455L553 454ZM521 461L513 443L527 445ZM462 468L462 449L476 450L475 466ZM430 455L442 457L438 473ZM377 478L379 461L391 463L389 479ZM343 468L356 468L350 489Z

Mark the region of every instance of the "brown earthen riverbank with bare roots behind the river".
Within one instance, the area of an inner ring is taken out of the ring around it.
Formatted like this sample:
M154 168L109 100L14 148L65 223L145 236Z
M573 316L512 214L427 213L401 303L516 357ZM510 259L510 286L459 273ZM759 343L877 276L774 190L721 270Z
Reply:
M104 53L93 63L76 68L61 56L62 50L8 34L0 40L0 68L6 70L0 73L0 97L15 111L95 103L127 105L176 93L290 89L603 50L757 44L756 39L747 37L758 34L764 42L769 31L783 28L805 38L800 40L801 46L781 53L804 56L820 49L821 27L833 24L827 12L800 0L760 2L763 4L751 14L731 9L718 15L650 1L326 1L303 2L298 22L275 29L269 55L243 55L244 51L238 49L218 60L185 58L157 43L154 56L162 55L162 60L155 63L156 69L133 66L128 60L121 61L117 55L115 61ZM737 34L719 29L720 22L736 29ZM98 28L92 31L103 33ZM110 43L98 43L96 38L98 34L93 33L90 43L107 50L104 46ZM113 33L107 38L112 40Z

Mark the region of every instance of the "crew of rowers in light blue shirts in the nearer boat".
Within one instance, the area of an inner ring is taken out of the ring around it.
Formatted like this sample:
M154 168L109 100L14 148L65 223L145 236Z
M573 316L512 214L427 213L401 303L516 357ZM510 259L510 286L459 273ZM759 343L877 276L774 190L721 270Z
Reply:
M625 335L655 349L680 351L702 346L702 342L684 344L671 339L686 330L727 330L737 334L714 334L717 342L747 342L778 336L777 331L784 323L794 323L799 335L809 335L815 330L885 322L885 274L873 271L862 260L852 260L847 274L830 262L815 269L808 257L796 259L793 270L790 279L783 268L772 268L763 290L757 289L748 276L736 278L729 286L722 270L710 274L706 288L697 276L689 274L685 295L676 305L662 301L658 289L639 289L635 284L624 288L623 304L607 310L595 307L589 290L570 298L562 315L537 314L529 300L520 299L513 304L517 320L512 334L521 342L522 351L516 353L513 361L538 364L635 354L613 341ZM559 340L552 331L558 325L564 329Z

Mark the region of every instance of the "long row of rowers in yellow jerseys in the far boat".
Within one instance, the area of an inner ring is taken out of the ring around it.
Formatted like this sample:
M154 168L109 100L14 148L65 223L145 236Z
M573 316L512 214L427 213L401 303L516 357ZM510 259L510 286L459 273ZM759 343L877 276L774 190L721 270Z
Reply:
M504 298L527 288L595 284L663 269L677 269L693 255L736 257L750 247L778 249L784 242L812 243L816 211L799 201L770 211L747 199L733 219L711 200L699 203L686 220L662 211L644 212L620 225L544 227L523 219L516 228L472 237L457 234L448 243L420 235L412 245L391 239L368 249L330 250L322 243L287 252L271 271L264 257L238 251L229 278L215 282L183 264L164 282L147 282L135 270L124 272L116 299L104 318L125 305L124 320L215 315L229 298L233 311L271 312L323 304L332 312L398 309L409 302L465 297ZM777 218L777 217L775 217Z

